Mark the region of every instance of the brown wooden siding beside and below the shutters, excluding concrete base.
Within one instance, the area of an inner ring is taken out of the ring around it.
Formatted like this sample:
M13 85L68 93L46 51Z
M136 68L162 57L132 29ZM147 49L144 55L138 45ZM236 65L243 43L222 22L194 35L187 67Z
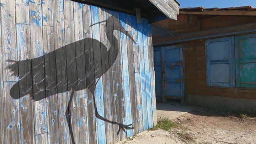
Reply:
M185 94L255 99L255 89L208 87L206 40L185 42Z

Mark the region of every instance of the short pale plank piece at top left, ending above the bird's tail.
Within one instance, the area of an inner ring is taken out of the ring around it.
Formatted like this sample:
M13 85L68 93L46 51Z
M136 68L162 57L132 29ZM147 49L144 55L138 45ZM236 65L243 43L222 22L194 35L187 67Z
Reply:
M15 0L16 23L30 24L28 0Z

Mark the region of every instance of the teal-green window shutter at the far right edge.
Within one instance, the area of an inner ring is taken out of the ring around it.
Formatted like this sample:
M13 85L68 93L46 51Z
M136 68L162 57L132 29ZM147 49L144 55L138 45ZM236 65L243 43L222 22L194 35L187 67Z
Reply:
M256 88L256 34L235 37L236 87Z

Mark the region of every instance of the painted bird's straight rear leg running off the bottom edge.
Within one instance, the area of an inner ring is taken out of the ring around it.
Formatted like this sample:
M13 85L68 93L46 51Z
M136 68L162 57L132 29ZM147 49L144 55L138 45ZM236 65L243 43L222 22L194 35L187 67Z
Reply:
M69 102L68 102L68 107L66 108L66 112L65 112L65 115L66 115L66 121L69 123L69 133L70 133L70 137L71 137L71 140L72 140L72 143L75 144L75 139L74 139L74 134L73 134L73 130L72 130L72 124L71 124L71 109L70 109L70 105L71 105L71 102L73 100L73 96L74 96L74 90L72 89L72 92L70 94L70 98L69 98Z

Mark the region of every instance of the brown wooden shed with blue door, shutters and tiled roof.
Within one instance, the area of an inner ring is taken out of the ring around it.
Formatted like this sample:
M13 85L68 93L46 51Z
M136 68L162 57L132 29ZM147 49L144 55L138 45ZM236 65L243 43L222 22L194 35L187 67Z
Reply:
M256 114L256 9L189 7L153 25L156 99Z

